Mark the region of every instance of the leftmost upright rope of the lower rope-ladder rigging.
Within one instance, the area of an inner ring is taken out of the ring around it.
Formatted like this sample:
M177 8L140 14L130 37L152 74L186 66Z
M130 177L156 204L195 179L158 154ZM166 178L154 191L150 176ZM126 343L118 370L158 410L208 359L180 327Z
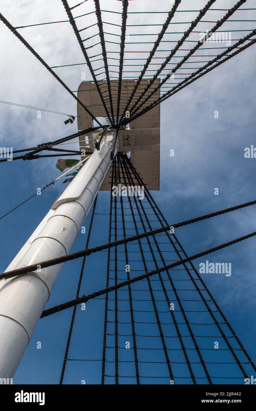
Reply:
M112 163L111 188L113 186L113 182L114 182L114 167ZM113 204L113 196L110 190L108 242L111 242L112 204ZM109 268L110 268L110 248L108 249L106 288L108 288L109 286ZM108 293L106 294L106 298L105 298L105 315L104 315L104 332L103 332L103 349L102 349L103 352L102 352L102 370L101 370L101 384L102 385L104 384L104 381L105 381L107 323L108 323Z

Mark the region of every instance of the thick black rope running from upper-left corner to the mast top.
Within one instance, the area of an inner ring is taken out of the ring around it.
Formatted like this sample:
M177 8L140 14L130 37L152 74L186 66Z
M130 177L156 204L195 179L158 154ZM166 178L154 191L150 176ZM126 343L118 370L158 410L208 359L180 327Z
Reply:
M51 67L48 66L48 64L42 59L42 57L39 56L39 54L34 50L34 48L32 48L30 44L28 44L28 42L17 32L14 26L11 23L9 23L9 21L1 13L0 20L7 26L7 28L9 28L9 30L13 32L13 34L16 37L18 37L21 43L24 44L26 48L28 48L28 50L37 58L37 60L40 61L40 63L42 63L42 65L48 70L48 72L50 72L53 75L53 77L56 80L58 80L58 82L65 88L65 90L67 90L69 94L71 94L71 96L74 97L74 99L83 107L83 109L85 109L85 111L93 118L93 120L95 120L98 123L98 125L101 126L100 122L97 120L97 118L95 118L95 116L90 112L90 110L88 110L88 108L85 107L85 105L78 99L78 97L76 97L76 95L74 95L70 88L60 79L60 77L51 69Z

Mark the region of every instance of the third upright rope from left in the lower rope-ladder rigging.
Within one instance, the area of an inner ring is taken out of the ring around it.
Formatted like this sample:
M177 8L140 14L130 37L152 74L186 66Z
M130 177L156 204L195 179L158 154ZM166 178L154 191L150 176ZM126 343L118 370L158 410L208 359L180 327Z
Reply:
M121 166L123 179L126 182L123 167L122 167L122 162L120 163L120 166ZM120 175L119 175L119 182L121 183ZM124 215L124 207L123 207L122 196L120 196L120 203L121 203L121 212L122 212L123 235L124 235L124 238L126 238L125 215ZM130 204L130 207L131 207L131 204ZM125 244L125 262L126 262L126 264L129 264L127 244ZM129 271L127 271L127 279L128 280L130 279L130 272ZM139 384L140 383L140 377L139 377L139 372L138 372L138 356L137 356L137 345L136 345L135 326L134 326L134 314L133 314L133 305L132 305L131 285L130 284L128 284L128 292L129 292L129 304L130 304L130 312L131 312L131 332L132 332L133 347L134 347L135 373L136 373L137 384Z

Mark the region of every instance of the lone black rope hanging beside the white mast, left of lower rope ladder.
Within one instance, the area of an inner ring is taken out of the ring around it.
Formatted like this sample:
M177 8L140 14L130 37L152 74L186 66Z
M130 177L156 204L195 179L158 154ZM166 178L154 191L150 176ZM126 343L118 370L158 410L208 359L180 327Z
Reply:
M94 217L94 214L95 214L96 203L97 203L97 196L95 197L95 200L94 200L94 203L93 203L92 217L91 217L91 221L90 221L90 226L89 226L89 231L88 231L88 236L87 236L86 246L85 246L86 248L88 248L89 241L90 241L90 235L91 235L91 231L92 231L92 223L93 223L93 217ZM77 286L77 290L76 290L76 298L78 298L79 293L80 293L81 282L82 282L82 279L83 279L83 270L84 270L84 266L85 266L85 259L86 259L86 256L83 257L81 272L80 272L80 276L79 276L79 279L78 279L78 286ZM73 331L75 316L76 316L76 305L74 306L72 317L71 317L71 322L70 322L70 327L69 327L69 334L68 334L68 337L67 337L67 345L66 345L64 358L63 358L62 370L61 370L61 374L60 374L60 384L63 383L63 378L64 378L65 369L66 369L66 365L67 365L67 356L68 356L68 353L69 353L69 346L70 346L70 340L71 340L71 335L72 335L72 331Z

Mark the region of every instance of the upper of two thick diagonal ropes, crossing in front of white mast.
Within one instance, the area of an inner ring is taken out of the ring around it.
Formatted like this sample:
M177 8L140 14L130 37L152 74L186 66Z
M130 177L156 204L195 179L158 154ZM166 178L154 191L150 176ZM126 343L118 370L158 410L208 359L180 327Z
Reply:
M192 218L190 220L186 220L186 221L183 221L183 222L180 222L180 223L170 224L166 227L161 227L159 229L148 231L146 233L141 233L141 234L138 234L136 236L123 238L122 240L117 240L117 241L114 241L114 242L110 242L108 244L100 245L98 247L76 251L72 254L67 254L67 255L61 256L61 257L56 257L54 259L47 260L47 261L42 261L42 262L36 263L36 264L31 264L30 266L27 266L27 267L16 268L15 270L1 273L0 274L0 280L4 279L4 278L7 279L7 278L15 277L16 275L26 274L28 272L32 272L34 270L37 270L37 265L38 264L40 264L40 266L42 268L45 268L45 267L54 266L56 264L65 263L66 261L74 260L76 258L83 257L85 255L90 255L90 254L95 253L97 251L102 251L104 249L108 249L109 247L115 247L115 245L125 244L127 242L131 242L131 241L134 241L134 240L138 240L138 239L141 239L141 238L146 238L146 237L152 236L153 234L158 234L158 233L163 233L165 231L169 231L170 226L172 226L173 228L186 226L188 224L193 224L193 223L198 222L198 221L202 221L202 220L205 220L205 219L208 219L208 218L211 218L211 217L215 217L217 215L225 214L227 212L231 212L231 211L234 211L234 210L239 210L240 208L248 207L250 205L255 205L255 204L256 204L256 200L249 201L248 203L235 205L234 207L230 207L230 208L226 208L224 210L212 212L210 214L205 214L201 217ZM254 235L254 233L248 234L249 237L252 237L252 235ZM249 238L249 237L247 237L247 238Z

